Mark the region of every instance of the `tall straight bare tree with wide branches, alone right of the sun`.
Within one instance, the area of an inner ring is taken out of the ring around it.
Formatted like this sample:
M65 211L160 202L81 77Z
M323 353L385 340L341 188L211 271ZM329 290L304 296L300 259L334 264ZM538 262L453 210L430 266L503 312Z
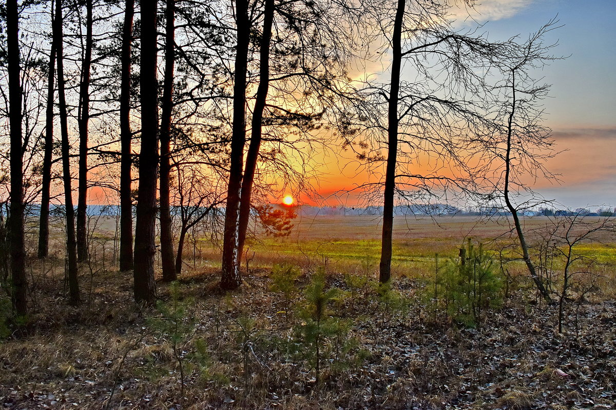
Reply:
M472 6L472 1L468 4ZM368 132L377 134L377 149L360 153L360 159L384 173L384 181L373 186L383 187L382 283L391 278L396 197L429 202L479 192L477 173L466 164L463 152L468 135L483 138L490 129L475 100L487 92L477 69L488 69L495 60L506 58L506 52L503 44L472 31L454 30L448 15L451 6L397 0L367 12L376 18L375 30L386 37L386 47L391 47L389 82L368 87L377 98L371 98L372 104L386 104L386 112L377 109L371 118L375 125L368 127ZM395 17L383 17L389 13ZM400 76L402 66L410 76ZM387 124L381 125L383 117Z

